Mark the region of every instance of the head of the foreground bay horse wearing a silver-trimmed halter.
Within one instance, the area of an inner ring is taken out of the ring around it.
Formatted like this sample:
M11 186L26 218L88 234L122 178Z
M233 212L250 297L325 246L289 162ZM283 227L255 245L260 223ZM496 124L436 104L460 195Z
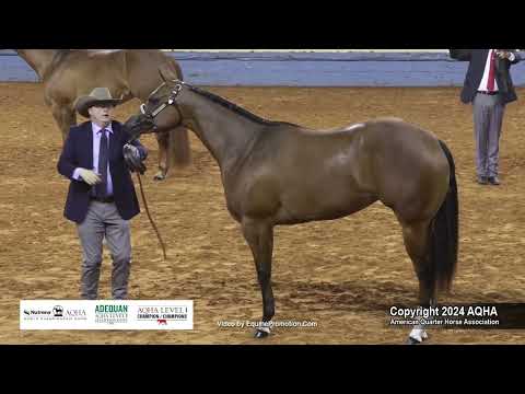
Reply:
M125 124L130 136L138 138L141 134L162 132L176 128L183 123L183 114L177 105L177 97L185 83L179 80L166 80L156 88L140 106L140 114L131 116Z

